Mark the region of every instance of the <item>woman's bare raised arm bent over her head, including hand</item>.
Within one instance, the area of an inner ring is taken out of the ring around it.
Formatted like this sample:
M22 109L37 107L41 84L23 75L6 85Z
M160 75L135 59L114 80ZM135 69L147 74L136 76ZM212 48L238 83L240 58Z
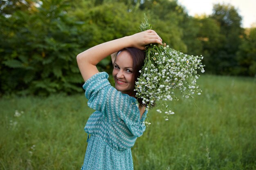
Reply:
M150 43L162 44L162 39L153 30L105 42L83 51L76 56L76 60L84 81L86 82L86 80L99 72L96 65L108 55L126 47L144 50L145 45Z

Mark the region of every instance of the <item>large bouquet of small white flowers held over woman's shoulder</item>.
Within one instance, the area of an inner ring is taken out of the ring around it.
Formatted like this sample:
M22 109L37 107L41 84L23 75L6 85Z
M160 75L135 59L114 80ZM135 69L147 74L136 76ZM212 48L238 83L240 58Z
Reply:
M140 31L152 29L145 15L145 22L140 25ZM187 55L180 51L171 49L168 45L148 44L146 46L146 59L137 82L135 83L136 96L143 99L143 104L147 109L155 105L156 101L168 101L177 99L175 89L186 98L193 97L193 94L200 95L202 90L196 85L200 70L204 73L204 65L201 60L202 55ZM165 120L168 115L174 112L168 107L166 102ZM162 109L157 109L162 113Z

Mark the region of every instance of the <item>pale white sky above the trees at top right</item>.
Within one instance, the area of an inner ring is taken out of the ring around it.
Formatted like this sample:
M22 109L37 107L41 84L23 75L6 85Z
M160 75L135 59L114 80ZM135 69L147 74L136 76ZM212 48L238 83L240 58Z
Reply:
M238 10L242 17L242 27L249 28L256 24L256 0L177 0L178 4L185 7L189 15L210 15L213 4L231 4Z

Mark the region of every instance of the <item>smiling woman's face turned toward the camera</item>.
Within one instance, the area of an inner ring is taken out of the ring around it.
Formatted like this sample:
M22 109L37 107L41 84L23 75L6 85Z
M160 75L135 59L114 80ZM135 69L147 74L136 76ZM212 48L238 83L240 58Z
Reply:
M134 82L132 81L132 56L128 51L121 51L114 62L113 77L115 88L122 93L131 95L134 93Z

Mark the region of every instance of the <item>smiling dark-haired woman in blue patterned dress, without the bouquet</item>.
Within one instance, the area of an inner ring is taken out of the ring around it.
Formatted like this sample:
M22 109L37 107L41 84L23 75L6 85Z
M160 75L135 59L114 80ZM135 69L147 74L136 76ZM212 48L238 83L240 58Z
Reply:
M85 125L88 146L82 170L133 170L130 148L143 134L147 114L135 97L134 87L144 64L145 54L141 50L151 43L162 44L162 39L155 31L147 30L77 55L88 106L96 110ZM117 51L117 55L112 55L114 88L108 82L108 74L99 73L96 65Z

